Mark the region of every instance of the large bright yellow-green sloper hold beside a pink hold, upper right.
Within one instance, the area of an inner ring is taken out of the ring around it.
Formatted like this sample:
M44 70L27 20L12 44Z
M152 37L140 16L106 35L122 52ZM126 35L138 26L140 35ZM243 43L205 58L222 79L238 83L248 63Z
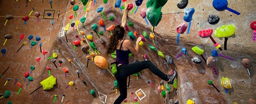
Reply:
M214 31L214 36L218 38L229 37L235 34L235 25L222 25L221 27L217 27Z

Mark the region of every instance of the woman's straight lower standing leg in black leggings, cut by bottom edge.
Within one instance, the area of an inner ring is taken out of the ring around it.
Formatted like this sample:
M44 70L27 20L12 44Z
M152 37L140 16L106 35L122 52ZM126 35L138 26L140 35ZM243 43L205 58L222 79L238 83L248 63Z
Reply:
M124 99L127 97L127 77L126 78L119 78L116 77L118 86L119 86L119 91L120 91L120 96L116 99L114 104L121 104Z

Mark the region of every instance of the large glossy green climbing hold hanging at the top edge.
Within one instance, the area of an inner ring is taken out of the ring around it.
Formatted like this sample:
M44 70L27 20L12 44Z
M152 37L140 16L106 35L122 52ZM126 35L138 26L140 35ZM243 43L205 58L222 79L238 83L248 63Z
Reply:
M157 26L162 19L162 7L166 4L167 0L148 0L147 1L147 19L151 25Z

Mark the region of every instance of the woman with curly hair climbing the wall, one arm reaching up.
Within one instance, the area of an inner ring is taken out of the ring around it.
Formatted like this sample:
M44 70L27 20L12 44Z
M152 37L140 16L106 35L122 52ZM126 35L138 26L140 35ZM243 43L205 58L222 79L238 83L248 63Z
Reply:
M149 68L154 75L157 75L161 79L168 82L168 84L173 84L173 80L176 77L176 71L173 72L172 75L165 75L161 70L159 70L154 64L147 61L140 61L136 63L129 64L128 57L129 53L132 52L134 55L139 53L139 42L141 41L141 37L137 38L135 48L130 40L125 39L125 25L128 14L128 5L124 10L122 17L122 25L117 25L114 28L114 34L110 37L109 45L107 47L107 54L111 54L116 50L116 65L117 65L117 73L115 74L116 80L118 82L120 96L116 99L114 104L121 104L124 99L127 97L127 77L129 75L133 75L137 72L140 72L143 69Z

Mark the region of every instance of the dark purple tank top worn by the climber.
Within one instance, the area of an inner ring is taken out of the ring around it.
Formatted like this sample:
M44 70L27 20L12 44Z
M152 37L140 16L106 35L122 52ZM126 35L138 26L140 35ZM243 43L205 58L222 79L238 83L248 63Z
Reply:
M129 64L128 58L129 58L130 50L127 50L127 51L121 50L122 45L123 45L123 42L121 43L120 48L116 49L116 62L117 62L117 64L128 65Z

